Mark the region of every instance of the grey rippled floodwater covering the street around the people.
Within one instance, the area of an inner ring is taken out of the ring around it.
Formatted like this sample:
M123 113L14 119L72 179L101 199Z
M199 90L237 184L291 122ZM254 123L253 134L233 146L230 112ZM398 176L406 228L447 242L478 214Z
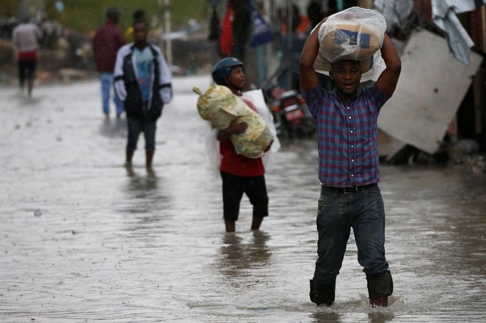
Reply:
M0 322L486 322L485 174L382 166L391 305L368 307L351 235L336 304L316 307L316 139L281 142L262 231L244 197L224 233L191 91L209 85L175 79L150 173L143 137L123 166L125 119L103 120L97 80L0 89Z

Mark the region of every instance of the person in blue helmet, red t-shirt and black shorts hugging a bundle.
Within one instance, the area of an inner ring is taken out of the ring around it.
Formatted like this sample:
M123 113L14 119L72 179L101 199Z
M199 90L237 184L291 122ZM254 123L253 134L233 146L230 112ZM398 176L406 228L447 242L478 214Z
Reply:
M244 74L243 63L237 58L227 57L219 60L212 69L212 78L218 85L224 85L232 90L234 95L242 97L247 78ZM256 107L242 97L242 100L252 110ZM267 185L265 184L265 169L262 157L248 158L237 154L230 137L234 134L242 134L247 130L247 123L232 120L229 127L219 130L219 153L221 154L221 171L223 186L223 218L226 232L235 231L235 222L238 219L239 203L243 194L247 194L253 206L252 230L259 230L263 218L268 216ZM264 149L267 152L272 146Z

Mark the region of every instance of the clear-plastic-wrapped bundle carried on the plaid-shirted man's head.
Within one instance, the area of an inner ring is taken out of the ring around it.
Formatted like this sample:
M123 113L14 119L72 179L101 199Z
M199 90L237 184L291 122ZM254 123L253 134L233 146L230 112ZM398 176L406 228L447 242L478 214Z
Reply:
M352 7L327 18L319 28L319 53L314 69L328 73L340 60L361 62L361 81L376 80L385 68L380 49L386 20L378 11Z

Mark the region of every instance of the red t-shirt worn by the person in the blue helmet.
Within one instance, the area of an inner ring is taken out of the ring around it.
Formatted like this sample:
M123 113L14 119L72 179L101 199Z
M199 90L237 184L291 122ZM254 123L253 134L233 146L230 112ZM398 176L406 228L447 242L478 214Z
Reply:
M252 102L244 100L244 102L256 111ZM245 177L262 176L265 174L262 158L248 158L237 154L234 150L234 145L231 140L224 140L219 142L219 154L221 154L221 171L226 171L229 174Z

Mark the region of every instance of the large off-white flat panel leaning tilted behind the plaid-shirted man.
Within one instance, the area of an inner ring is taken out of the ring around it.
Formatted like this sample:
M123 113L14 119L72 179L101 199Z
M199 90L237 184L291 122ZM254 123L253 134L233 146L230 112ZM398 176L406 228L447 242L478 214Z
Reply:
M429 31L410 36L401 57L398 86L378 117L387 134L433 154L460 106L482 58L464 65L449 53L445 38Z

